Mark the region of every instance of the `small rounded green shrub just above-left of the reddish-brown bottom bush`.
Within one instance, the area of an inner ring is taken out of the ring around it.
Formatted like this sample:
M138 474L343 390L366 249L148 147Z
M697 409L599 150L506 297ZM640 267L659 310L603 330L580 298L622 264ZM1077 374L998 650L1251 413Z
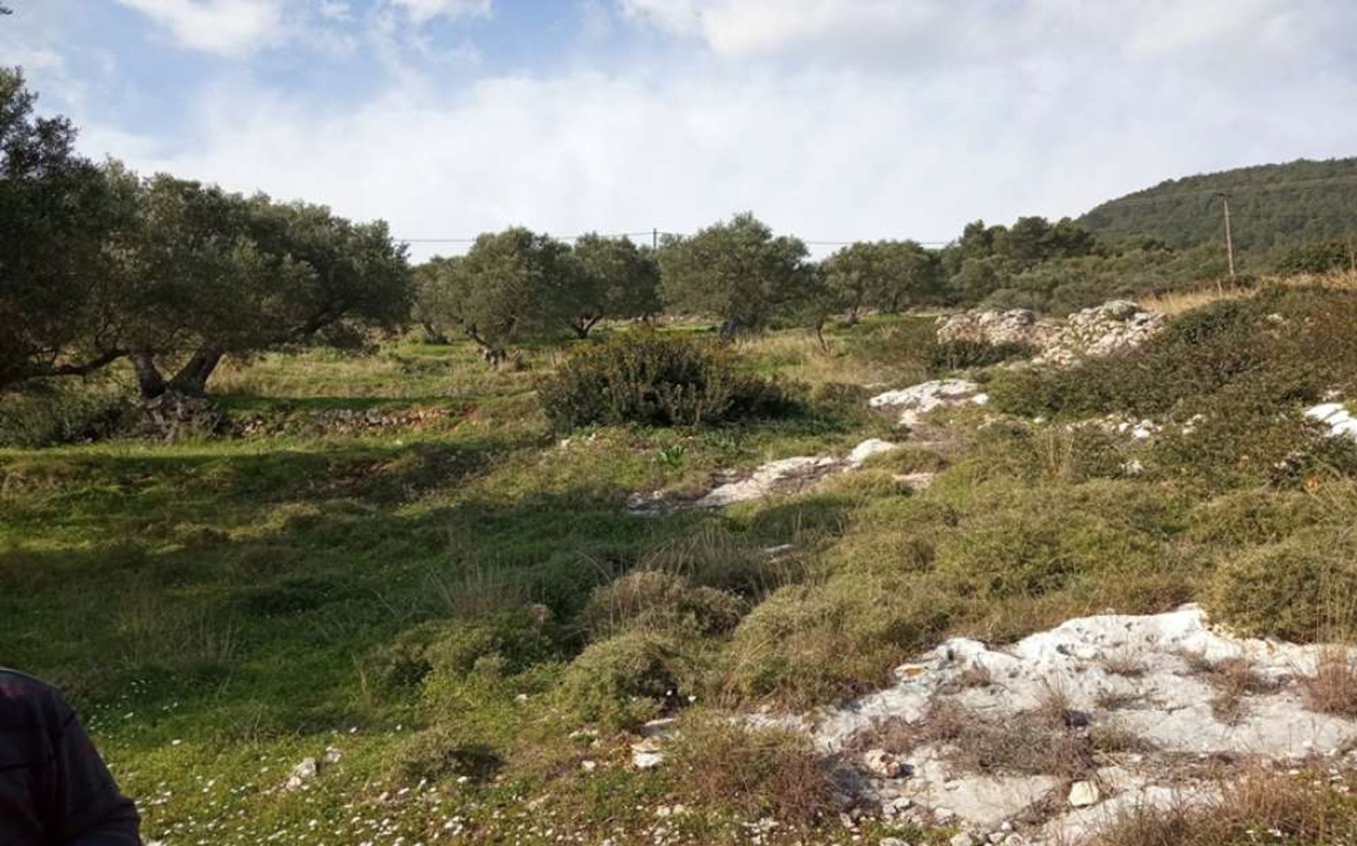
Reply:
M575 717L632 728L683 702L699 662L672 634L632 629L590 644L560 677L560 704Z

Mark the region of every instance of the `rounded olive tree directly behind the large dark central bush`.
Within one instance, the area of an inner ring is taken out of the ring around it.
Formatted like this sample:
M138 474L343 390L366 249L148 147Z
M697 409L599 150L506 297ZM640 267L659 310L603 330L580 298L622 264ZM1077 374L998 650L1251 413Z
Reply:
M665 236L658 259L670 310L715 315L722 332L757 331L806 298L806 245L737 214L691 237Z

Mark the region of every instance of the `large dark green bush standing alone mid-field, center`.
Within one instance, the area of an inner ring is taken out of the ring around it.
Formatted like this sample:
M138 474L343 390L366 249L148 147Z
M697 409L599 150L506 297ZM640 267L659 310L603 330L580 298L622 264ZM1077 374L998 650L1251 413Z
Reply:
M790 414L786 388L745 371L721 347L657 332L623 332L578 347L539 385L558 428L642 423L699 426Z

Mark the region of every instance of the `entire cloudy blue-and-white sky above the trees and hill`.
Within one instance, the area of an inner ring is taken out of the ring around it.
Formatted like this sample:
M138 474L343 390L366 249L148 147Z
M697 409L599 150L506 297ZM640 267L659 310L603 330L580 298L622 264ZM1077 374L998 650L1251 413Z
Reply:
M137 171L383 218L947 241L1357 155L1353 0L7 0L0 64ZM826 243L826 244L818 244Z

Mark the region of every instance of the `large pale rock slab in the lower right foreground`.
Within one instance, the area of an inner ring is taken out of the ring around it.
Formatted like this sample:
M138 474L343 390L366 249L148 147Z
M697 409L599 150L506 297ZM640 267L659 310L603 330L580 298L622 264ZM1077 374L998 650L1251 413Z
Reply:
M886 818L974 842L1080 843L1126 811L1219 797L1229 762L1349 762L1357 721L1304 694L1334 653L1232 637L1197 606L1099 614L1008 647L949 640L809 731L856 762ZM1048 755L1050 769L1033 761Z

